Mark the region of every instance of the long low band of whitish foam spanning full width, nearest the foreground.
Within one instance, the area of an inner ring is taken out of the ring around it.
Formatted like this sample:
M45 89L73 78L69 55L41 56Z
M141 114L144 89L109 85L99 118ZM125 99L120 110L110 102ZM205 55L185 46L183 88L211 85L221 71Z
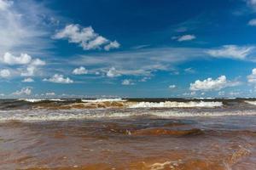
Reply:
M135 116L156 116L162 118L195 117L195 116L253 116L256 111L96 111L96 110L60 110L60 111L0 111L0 122L44 122L83 119L112 119Z

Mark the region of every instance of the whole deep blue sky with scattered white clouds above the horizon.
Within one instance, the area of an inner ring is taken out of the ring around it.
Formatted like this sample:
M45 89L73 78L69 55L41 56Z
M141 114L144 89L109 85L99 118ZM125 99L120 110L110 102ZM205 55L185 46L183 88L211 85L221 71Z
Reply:
M0 97L255 97L256 1L0 0Z

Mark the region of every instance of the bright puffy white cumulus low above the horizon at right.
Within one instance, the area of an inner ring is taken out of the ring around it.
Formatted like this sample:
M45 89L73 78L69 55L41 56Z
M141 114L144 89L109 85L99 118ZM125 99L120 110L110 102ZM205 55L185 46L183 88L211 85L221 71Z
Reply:
M212 79L211 77L206 80L196 80L194 83L190 83L191 91L211 91L211 90L220 90L222 88L233 87L238 85L239 82L230 82L225 76L220 76L217 79Z

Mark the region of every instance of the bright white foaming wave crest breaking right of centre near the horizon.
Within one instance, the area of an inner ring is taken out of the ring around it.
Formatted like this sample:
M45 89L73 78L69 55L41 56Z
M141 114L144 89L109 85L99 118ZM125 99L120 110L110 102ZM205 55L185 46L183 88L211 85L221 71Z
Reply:
M139 102L135 105L130 105L130 108L186 108L186 107L221 107L222 102L212 101L189 101L189 102L177 102L177 101L165 101L165 102Z

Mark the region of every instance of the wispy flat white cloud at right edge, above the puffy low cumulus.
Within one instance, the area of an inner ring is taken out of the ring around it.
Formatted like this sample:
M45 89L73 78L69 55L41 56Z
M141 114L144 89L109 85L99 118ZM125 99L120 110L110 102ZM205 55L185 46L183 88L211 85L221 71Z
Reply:
M222 48L209 49L207 54L218 58L245 59L253 52L254 47L239 47L236 45L224 45Z

